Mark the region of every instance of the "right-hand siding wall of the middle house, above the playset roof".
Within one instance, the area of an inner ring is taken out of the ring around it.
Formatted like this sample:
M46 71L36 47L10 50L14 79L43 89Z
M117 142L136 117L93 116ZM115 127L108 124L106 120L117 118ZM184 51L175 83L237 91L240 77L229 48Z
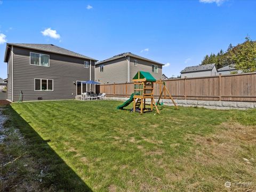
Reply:
M134 66L134 60L137 60L137 67ZM158 73L152 72L152 64L158 66ZM156 80L162 79L162 65L130 57L130 82L132 82L132 78L138 73L139 70L149 72L153 77L155 77Z

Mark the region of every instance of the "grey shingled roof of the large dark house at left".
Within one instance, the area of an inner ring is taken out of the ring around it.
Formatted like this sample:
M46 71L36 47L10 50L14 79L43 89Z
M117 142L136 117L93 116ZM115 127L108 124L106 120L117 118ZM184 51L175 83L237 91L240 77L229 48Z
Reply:
M53 45L53 44L7 43L6 44L4 62L7 62L7 58L8 58L7 56L10 52L9 45L25 47L25 48L28 48L28 49L46 51L46 52L57 53L57 54L62 54L62 55L69 55L71 57L77 57L77 58L82 58L82 59L90 59L90 60L98 61L96 59L87 57L85 55L82 55L82 54L79 54L79 53L76 53L76 52L73 52L73 51L63 49L63 48L61 48L59 46L56 46L56 45Z

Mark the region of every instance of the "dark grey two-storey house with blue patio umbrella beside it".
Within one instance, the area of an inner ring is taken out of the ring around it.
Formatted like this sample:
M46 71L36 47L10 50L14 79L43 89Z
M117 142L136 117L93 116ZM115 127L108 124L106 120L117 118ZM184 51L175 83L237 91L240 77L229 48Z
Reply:
M52 44L7 43L7 100L75 99L89 91L81 81L94 81L95 61Z

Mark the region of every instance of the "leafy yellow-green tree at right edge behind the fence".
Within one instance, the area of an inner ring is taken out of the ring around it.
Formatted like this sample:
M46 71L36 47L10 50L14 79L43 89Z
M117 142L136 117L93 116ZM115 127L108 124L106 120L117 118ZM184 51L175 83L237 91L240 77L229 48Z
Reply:
M235 64L237 70L244 73L256 71L256 42L245 37L245 42L229 51L228 59Z

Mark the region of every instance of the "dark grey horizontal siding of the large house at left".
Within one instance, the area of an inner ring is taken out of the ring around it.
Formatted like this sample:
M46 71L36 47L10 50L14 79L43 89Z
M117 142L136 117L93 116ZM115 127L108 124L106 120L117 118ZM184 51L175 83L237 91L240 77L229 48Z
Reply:
M90 60L16 46L13 52L13 101L19 100L20 91L24 101L39 97L43 100L75 99L76 85L73 82L90 80L90 68L84 68L84 61ZM50 55L50 67L30 65L30 52ZM94 61L92 65L94 68ZM53 91L34 91L35 78L53 79Z

